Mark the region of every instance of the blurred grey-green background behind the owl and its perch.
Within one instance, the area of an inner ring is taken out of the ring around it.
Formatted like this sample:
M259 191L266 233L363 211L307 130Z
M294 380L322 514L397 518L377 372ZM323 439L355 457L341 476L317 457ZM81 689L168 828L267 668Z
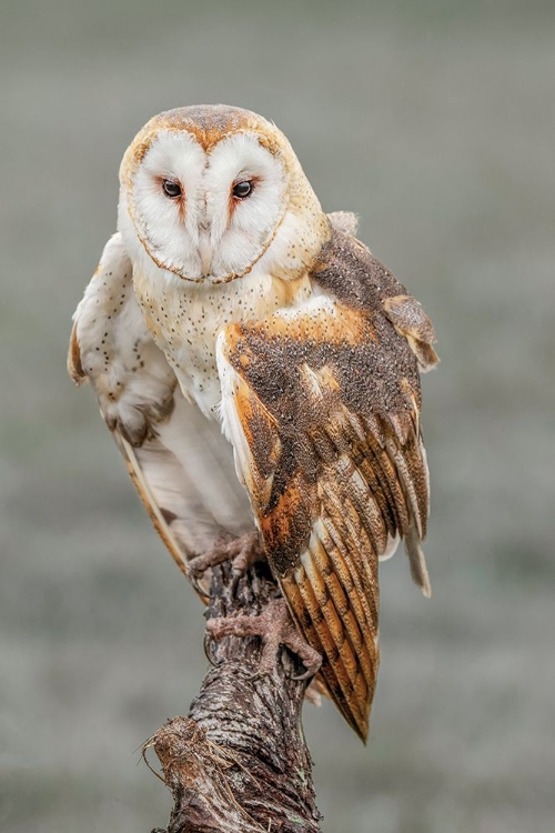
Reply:
M305 709L325 833L555 830L555 4L6 0L0 10L0 827L137 833L202 608L151 530L70 318L154 113L274 120L432 315L433 598L382 566L369 746Z

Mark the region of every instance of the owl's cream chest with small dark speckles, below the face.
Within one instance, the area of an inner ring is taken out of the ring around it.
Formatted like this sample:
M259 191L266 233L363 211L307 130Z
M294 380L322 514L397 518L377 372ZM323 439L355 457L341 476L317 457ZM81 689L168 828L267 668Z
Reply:
M221 330L296 305L312 291L307 275L282 281L256 273L206 285L161 274L135 273L133 280L149 330L175 371L183 394L212 418L218 415L222 395L215 362Z

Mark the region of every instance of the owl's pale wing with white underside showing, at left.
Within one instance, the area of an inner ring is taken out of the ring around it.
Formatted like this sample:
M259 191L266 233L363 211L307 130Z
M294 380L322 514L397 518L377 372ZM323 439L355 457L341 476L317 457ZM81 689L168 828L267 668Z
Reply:
M144 324L120 234L107 243L75 311L68 367L77 384L92 382L137 490L183 572L190 558L225 535L253 529L220 425L184 400Z

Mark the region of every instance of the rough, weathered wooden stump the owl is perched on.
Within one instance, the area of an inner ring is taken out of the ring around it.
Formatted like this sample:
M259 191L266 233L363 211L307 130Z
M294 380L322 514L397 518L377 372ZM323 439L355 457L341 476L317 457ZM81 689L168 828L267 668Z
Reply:
M279 595L264 563L236 590L225 564L213 570L206 615L258 615ZM252 636L206 641L206 653L214 668L189 716L169 721L147 744L174 800L168 831L158 833L317 833L301 726L306 681L293 679L304 666L281 648L275 671L261 676L261 640Z

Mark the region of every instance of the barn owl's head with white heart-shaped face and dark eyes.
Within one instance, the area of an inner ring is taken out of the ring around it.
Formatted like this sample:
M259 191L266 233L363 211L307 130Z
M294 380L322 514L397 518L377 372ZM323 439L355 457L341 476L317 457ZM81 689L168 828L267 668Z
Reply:
M130 257L196 283L260 264L296 278L329 223L290 143L260 116L222 104L149 121L120 169L119 228Z

